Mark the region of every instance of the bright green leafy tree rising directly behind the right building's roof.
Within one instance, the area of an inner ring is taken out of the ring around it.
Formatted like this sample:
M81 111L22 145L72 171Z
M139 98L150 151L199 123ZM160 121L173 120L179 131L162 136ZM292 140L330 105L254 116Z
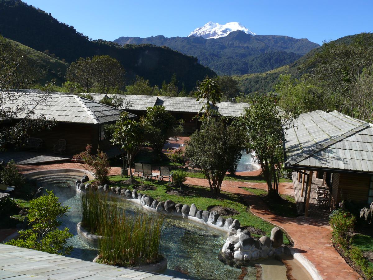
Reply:
M279 105L288 111L306 113L334 108L333 98L308 75L300 80L292 79L290 74L280 75L275 89L280 96Z

